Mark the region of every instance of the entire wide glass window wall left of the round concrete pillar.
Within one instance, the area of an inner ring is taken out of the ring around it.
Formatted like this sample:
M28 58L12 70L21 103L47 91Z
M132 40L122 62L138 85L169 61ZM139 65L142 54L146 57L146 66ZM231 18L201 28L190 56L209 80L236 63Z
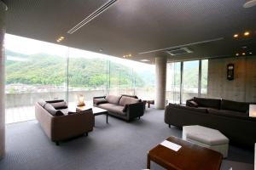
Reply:
M6 122L34 119L38 99L154 98L154 65L7 34Z

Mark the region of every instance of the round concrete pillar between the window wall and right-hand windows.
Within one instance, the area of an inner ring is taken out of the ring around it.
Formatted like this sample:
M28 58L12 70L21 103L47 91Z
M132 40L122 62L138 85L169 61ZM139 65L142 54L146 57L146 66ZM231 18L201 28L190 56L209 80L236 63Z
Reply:
M156 109L166 107L166 57L155 58L155 99Z

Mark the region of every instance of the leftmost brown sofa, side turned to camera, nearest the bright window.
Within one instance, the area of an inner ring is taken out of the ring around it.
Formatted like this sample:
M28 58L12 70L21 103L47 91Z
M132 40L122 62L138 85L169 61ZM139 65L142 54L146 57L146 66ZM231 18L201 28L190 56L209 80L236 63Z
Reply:
M57 145L65 139L88 135L94 125L92 111L70 112L67 106L60 106L61 102L64 100L40 101L35 105L35 115L44 133Z

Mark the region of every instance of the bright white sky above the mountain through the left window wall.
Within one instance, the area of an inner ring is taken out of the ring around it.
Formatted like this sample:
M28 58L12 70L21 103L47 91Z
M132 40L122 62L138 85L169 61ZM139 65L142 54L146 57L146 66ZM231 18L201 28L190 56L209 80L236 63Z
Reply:
M42 42L26 37L19 37L15 35L5 34L4 47L11 51L20 53L20 54L55 54L60 57L66 57L67 53L69 57L84 57L84 58L103 58L110 59L116 63L126 65L132 68L134 71L142 72L148 70L154 70L154 65L143 64L141 62L132 61L129 59L120 59L117 57L97 54L90 51L85 51L77 48L68 48L66 46L61 46L55 43ZM19 60L18 56L8 56L8 59Z

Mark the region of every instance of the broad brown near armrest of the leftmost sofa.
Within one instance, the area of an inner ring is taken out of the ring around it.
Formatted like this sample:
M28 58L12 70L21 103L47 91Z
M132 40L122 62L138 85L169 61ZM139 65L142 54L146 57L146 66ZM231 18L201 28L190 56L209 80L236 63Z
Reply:
M55 116L52 121L51 139L60 141L90 132L93 130L94 121L92 111Z

